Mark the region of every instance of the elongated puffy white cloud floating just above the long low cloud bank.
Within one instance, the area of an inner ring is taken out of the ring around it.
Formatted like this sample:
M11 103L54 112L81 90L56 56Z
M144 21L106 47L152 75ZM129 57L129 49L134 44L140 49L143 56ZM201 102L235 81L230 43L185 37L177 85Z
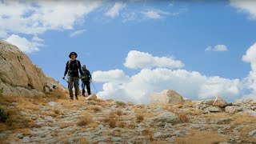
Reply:
M174 58L154 57L152 54L131 50L127 57L124 66L131 69L144 69L152 67L167 67L167 68L181 68L184 64L181 61L174 60Z

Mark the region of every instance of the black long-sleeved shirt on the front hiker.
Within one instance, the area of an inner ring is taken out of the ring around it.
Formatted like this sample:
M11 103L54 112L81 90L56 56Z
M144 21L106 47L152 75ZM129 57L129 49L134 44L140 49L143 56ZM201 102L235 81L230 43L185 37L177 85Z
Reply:
M70 61L66 62L66 70L65 70L64 76L66 76L66 74L69 73L70 77L79 77L78 70L79 70L79 73L82 75L81 63L77 61L78 60L74 60L74 61L71 60L71 62Z

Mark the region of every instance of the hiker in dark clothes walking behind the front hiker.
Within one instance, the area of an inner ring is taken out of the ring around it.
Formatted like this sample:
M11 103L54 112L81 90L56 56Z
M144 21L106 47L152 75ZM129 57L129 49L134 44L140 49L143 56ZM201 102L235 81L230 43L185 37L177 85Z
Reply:
M90 71L86 69L86 65L82 66L82 95L86 96L86 90L88 95L90 95L90 81L91 81L91 75ZM85 90L86 86L86 90Z

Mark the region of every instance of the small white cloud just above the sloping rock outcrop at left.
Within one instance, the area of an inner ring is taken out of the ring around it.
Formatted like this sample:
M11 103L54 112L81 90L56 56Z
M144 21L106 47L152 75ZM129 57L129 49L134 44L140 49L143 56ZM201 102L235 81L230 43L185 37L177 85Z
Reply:
M26 38L20 37L17 34L10 35L9 38L6 38L6 41L17 46L20 50L26 53L38 51L38 47L42 46L41 42L43 42L43 40L38 37L32 38L30 42Z

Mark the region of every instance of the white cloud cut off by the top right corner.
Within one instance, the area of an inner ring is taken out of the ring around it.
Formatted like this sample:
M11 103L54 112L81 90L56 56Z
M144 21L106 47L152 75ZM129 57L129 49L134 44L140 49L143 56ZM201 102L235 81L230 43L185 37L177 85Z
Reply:
M240 12L250 14L250 19L256 20L256 1L254 0L230 0L230 5Z

